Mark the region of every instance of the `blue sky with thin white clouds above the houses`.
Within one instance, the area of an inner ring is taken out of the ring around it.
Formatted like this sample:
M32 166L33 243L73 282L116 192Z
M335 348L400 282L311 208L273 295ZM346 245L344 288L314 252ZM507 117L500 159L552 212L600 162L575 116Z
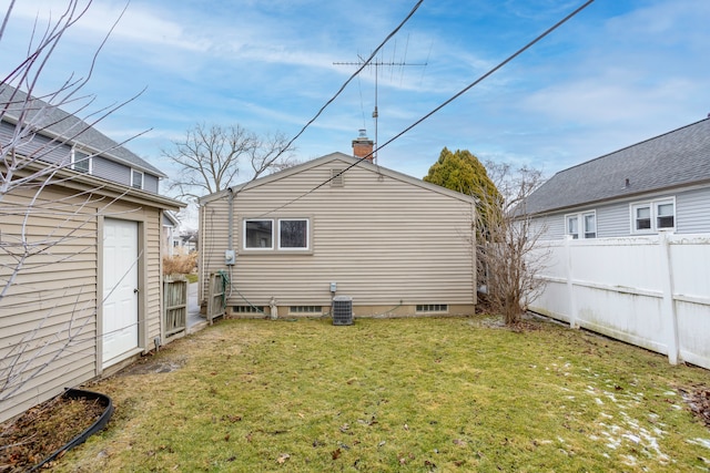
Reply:
M582 0L425 0L378 56L385 143L488 72ZM3 10L8 0L0 0ZM94 0L62 40L41 90L88 73L123 1ZM415 0L132 0L99 55L87 93L100 109L145 92L99 124L171 174L161 157L196 123L294 136ZM19 1L0 41L7 72L34 18L61 0ZM710 2L596 0L551 35L378 153L426 175L444 146L545 175L704 119L710 113ZM375 137L375 70L354 80L295 142L305 161ZM250 176L243 174L244 179Z

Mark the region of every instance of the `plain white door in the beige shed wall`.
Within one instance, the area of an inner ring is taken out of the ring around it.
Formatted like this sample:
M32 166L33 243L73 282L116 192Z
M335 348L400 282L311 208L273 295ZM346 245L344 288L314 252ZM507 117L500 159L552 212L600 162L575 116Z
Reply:
M138 223L103 220L103 368L138 348Z

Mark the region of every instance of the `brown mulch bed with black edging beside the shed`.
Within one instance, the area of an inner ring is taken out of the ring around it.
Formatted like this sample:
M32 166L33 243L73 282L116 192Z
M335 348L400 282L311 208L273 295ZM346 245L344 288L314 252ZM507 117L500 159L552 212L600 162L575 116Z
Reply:
M26 472L89 429L103 414L99 400L59 395L0 424L0 472Z

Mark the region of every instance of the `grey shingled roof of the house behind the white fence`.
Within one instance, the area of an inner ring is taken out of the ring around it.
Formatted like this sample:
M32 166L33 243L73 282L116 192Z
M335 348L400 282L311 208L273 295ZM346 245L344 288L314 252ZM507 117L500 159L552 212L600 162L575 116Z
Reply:
M704 183L710 183L710 119L560 171L528 197L526 213Z

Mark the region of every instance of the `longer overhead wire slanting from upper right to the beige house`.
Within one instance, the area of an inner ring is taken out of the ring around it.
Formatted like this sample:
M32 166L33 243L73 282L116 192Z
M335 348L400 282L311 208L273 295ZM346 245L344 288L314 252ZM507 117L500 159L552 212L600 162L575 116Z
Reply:
M488 76L490 76L491 74L494 74L495 72L497 72L499 69L501 69L504 65L506 65L507 63L509 63L510 61L513 61L515 58L517 58L518 55L523 54L525 51L527 51L528 49L530 49L534 44L536 44L537 42L539 42L540 40L542 40L545 37L547 37L548 34L550 34L552 31L555 31L556 29L558 29L559 27L561 27L564 23L566 23L567 21L569 21L572 17L575 17L577 13L579 13L580 11L582 11L584 9L586 9L587 7L589 7L591 3L594 3L595 0L588 0L586 3L584 3L581 7L577 8L575 11L572 11L571 13L569 13L567 17L562 18L561 20L559 20L557 23L555 23L552 27L548 28L545 32L542 32L541 34L539 34L537 38L535 38L532 41L530 41L529 43L527 43L525 47L520 48L519 50L517 50L515 53L513 53L511 55L509 55L506 60L504 60L503 62L500 62L498 65L496 65L495 68L493 68L490 71L486 72L484 75L481 75L480 78L476 79L474 82L471 82L470 84L468 84L467 86L465 86L464 89L462 89L459 92L457 92L455 95L453 95L452 97L449 97L448 100L446 100L444 103L442 103L440 105L438 105L436 109L432 110L429 113L427 113L426 115L422 116L419 120L417 120L416 122L414 122L412 125L407 126L406 128L404 128L402 132L397 133L396 135L394 135L392 138L387 140L385 143L383 143L382 146L377 146L377 148L373 150L371 153L366 154L365 156L361 157L359 160L357 160L356 162L354 162L353 164L351 164L349 166L345 167L343 171L341 171L339 173L337 173L336 175L332 176L331 178L322 182L321 184L318 184L317 186L313 187L311 191L300 195L298 197L287 202L286 204L274 208L273 210L266 212L265 214L262 214L262 216L264 215L268 215L268 214L273 214L274 212L281 210L282 208L285 208L287 206L290 206L291 204L293 204L296 200L302 199L303 197L307 196L308 194L317 191L318 188L323 187L324 185L326 185L327 183L329 183L331 181L333 181L334 178L345 174L345 172L352 169L353 167L357 166L361 162L367 160L368 157L371 157L373 154L375 154L377 151L379 151L381 148L387 146L388 144L390 144L392 142L394 142L395 140L399 138L402 135L404 135L405 133L407 133L408 131L410 131L412 128L414 128L415 126L417 126L419 123L424 122L425 120L427 120L428 117L430 117L432 115L434 115L436 112L438 112L439 110L444 109L446 105L448 105L449 103L454 102L456 99L458 99L459 96L462 96L463 94L465 94L466 92L468 92L470 89L473 89L475 85L479 84L481 81L484 81L485 79L487 79ZM369 58L369 60L372 60L372 56ZM362 70L362 68L361 68ZM359 72L359 70L358 70Z

